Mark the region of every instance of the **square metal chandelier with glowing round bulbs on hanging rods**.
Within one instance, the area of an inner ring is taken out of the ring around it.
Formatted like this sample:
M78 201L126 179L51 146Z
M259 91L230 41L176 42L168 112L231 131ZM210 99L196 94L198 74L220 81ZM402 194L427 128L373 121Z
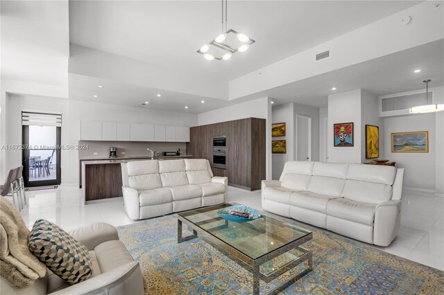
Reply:
M205 57L206 60L229 60L230 57L234 53L237 52L245 52L248 47L250 47L251 44L255 43L255 40L251 39L245 34L239 33L236 30L233 30L230 28L230 30L227 30L227 0L225 0L225 22L223 19L223 0L222 1L222 33L221 35L217 36L216 38L212 39L207 44L201 46L197 53L200 53ZM223 26L225 24L225 30L223 30ZM227 44L227 37L232 35L236 35L237 39L242 43L239 47L236 48L236 46L231 46ZM226 51L223 55L220 57L214 56L207 51L210 50L211 46L221 48L223 51Z

